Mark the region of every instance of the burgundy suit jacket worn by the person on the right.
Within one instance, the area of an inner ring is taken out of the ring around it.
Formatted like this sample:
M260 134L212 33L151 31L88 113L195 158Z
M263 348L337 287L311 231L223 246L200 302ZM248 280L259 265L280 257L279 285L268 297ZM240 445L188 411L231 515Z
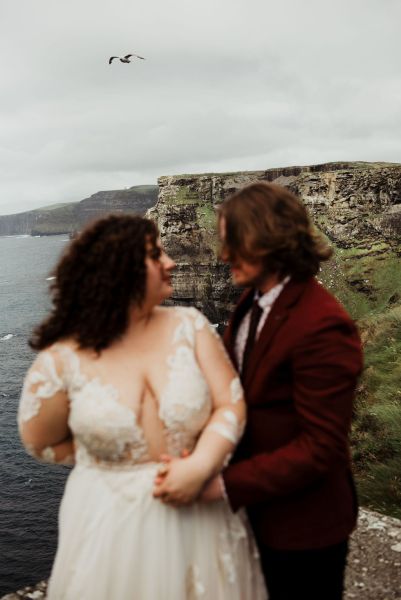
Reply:
M234 341L253 290L224 336ZM233 510L247 508L260 545L321 548L345 540L357 515L349 429L362 351L357 329L315 278L290 280L249 357L244 436L223 478Z

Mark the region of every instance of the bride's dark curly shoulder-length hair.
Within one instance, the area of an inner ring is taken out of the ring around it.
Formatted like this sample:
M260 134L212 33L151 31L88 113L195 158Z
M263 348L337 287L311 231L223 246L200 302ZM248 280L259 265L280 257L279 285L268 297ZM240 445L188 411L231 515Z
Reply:
M110 346L125 332L130 306L144 300L146 245L160 252L158 235L153 221L132 215L110 215L86 227L54 269L53 307L34 330L31 348L63 338L96 352Z

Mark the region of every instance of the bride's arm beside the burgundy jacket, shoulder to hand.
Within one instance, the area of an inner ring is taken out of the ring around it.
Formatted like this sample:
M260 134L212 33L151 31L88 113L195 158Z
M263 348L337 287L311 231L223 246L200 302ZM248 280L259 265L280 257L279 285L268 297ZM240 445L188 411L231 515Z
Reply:
M192 454L168 464L155 496L173 504L192 501L206 481L219 473L238 443L245 425L245 402L237 373L214 328L200 313L195 325L195 352L209 385L213 408Z

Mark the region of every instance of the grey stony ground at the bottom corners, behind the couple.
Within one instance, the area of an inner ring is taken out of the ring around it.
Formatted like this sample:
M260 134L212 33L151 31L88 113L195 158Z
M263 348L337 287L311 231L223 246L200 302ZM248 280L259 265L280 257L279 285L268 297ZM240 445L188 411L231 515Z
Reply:
M44 598L46 582L41 581L0 600ZM344 600L401 600L401 520L360 511L351 540Z

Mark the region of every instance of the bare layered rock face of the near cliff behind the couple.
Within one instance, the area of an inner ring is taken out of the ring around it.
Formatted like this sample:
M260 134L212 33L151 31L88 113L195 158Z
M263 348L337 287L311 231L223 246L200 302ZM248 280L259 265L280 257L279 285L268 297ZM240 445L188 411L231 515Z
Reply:
M331 163L160 177L159 199L149 214L157 219L163 243L178 264L173 301L195 304L212 320L224 320L236 292L227 269L216 259L215 211L238 188L263 180L284 185L300 196L344 259L383 253L396 256L401 238L401 165ZM371 270L370 264L365 266ZM329 287L332 268L322 274ZM367 273L362 271L360 281L357 277L348 284L351 295L358 292L358 286L367 286Z

